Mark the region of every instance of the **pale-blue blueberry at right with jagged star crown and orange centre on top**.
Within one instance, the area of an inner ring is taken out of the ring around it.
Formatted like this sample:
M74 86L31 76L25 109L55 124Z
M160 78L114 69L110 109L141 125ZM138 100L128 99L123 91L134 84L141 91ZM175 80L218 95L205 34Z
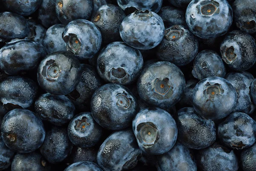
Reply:
M236 89L222 77L205 78L194 88L193 107L200 116L207 119L227 117L236 103Z

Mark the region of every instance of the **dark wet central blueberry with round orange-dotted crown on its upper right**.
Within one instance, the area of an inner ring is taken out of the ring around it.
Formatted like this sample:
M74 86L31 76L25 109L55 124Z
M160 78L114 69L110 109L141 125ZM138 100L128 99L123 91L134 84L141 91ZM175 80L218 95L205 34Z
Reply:
M136 98L120 84L101 86L91 99L92 116L105 129L121 130L130 126L137 113L136 108Z

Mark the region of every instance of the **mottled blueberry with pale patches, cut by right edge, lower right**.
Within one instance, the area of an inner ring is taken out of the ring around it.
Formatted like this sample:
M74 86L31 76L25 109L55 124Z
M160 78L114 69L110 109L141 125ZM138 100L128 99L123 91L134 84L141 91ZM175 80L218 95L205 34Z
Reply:
M227 147L248 148L256 141L256 122L247 114L234 112L218 125L218 137Z

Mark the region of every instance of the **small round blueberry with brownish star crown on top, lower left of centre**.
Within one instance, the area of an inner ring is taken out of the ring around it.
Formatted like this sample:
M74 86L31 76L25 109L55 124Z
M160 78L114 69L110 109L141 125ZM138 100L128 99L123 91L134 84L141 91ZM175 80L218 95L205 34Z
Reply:
M102 127L96 123L90 112L77 114L67 127L70 141L81 148L96 145L102 136Z

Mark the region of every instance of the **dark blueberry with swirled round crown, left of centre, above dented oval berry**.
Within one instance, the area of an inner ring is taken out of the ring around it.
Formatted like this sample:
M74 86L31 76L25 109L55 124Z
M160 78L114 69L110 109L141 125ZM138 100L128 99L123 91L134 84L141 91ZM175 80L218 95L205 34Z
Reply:
M69 94L81 80L79 60L67 51L48 54L38 66L37 78L41 88L48 93Z

